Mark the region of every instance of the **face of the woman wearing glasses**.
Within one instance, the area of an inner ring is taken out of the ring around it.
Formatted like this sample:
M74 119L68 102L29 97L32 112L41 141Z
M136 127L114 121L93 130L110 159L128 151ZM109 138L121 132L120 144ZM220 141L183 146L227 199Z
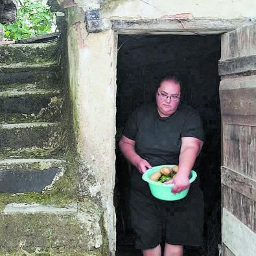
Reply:
M180 100L177 101L177 98L176 101L173 98L161 99L163 97L159 95L180 97L180 84L172 80L163 81L157 91L156 104L158 113L160 117L169 117L177 110Z

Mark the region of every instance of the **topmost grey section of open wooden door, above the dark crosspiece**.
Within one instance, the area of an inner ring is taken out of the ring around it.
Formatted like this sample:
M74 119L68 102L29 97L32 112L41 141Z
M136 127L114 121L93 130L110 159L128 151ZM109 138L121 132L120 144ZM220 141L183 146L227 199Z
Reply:
M223 34L221 41L221 60L255 55L256 24L239 26L239 29Z

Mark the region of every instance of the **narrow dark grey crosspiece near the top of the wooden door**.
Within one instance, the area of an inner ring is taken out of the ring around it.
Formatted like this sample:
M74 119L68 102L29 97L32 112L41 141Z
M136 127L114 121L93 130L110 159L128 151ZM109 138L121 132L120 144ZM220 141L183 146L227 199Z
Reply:
M233 58L229 60L220 60L218 62L219 75L229 75L256 71L256 55Z

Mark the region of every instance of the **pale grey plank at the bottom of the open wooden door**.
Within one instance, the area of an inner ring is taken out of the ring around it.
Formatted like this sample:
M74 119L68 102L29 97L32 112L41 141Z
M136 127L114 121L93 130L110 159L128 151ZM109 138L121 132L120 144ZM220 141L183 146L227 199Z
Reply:
M222 241L236 256L256 255L256 234L226 208L222 209Z

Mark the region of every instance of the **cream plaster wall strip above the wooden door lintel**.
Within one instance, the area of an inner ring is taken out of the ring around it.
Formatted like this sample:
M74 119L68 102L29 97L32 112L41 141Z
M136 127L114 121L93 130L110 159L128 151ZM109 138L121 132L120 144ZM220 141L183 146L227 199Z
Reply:
M85 1L85 0L84 0ZM191 17L234 19L255 17L255 1L243 0L112 0L102 5L102 17L110 19L170 18L189 13Z

